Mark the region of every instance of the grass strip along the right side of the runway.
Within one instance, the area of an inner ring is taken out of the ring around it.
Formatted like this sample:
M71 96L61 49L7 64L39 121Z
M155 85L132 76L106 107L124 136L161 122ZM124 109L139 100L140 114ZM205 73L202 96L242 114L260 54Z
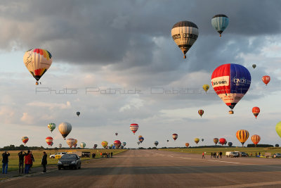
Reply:
M271 153L273 155L274 153L281 153L281 147L214 147L214 148L176 148L176 149L159 149L164 151L175 151L175 152L183 152L183 153L197 153L202 154L203 152L206 152L206 155L211 156L211 152L223 152L223 156L226 155L226 151L244 151L249 154L249 156L256 156L259 155L259 152L261 152L261 156L264 156L265 153Z

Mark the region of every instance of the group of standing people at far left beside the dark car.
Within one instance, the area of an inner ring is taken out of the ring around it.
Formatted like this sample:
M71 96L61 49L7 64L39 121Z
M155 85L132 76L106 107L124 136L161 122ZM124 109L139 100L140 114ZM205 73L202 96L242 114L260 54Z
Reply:
M2 173L6 174L8 173L8 156L10 156L10 153L8 151L4 151L2 153ZM18 153L18 173L23 173L25 171L25 174L30 173L33 162L35 162L34 157L32 155L32 151L28 150L27 153L25 151L20 151ZM24 166L25 164L25 166ZM47 154L44 151L41 165L43 165L43 173L46 173L46 165L47 165Z

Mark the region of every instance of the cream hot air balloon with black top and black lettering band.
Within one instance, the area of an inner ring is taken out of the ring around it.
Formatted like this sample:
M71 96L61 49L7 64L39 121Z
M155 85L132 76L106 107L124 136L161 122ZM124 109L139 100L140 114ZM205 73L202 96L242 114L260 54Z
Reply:
M199 32L197 25L189 21L178 22L171 29L171 37L173 37L174 42L178 45L178 48L183 51L183 58L186 58L185 54L195 43L198 35Z

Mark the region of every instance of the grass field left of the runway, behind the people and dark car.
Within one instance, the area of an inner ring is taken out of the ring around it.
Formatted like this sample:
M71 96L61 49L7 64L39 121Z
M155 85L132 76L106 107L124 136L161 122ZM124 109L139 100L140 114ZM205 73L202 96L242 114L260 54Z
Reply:
M48 154L48 165L55 165L58 163L58 159L56 158L49 158L50 153L58 153L58 152L64 152L64 151L89 151L91 153L96 153L96 158L100 158L100 152L112 152L113 156L116 155L117 153L121 153L123 151L126 151L126 149L61 149L61 150L46 150L46 153ZM11 170L18 170L18 152L20 151L8 151L10 153L10 156L8 158L9 162L8 162L8 171ZM27 152L27 151L25 151ZM0 151L0 153L4 153L4 151ZM34 163L32 165L32 167L37 167L37 166L41 166L41 158L43 156L43 151L32 151L32 154L34 156ZM2 155L1 155L1 159L2 159ZM90 160L92 158L81 158L81 160ZM2 160L1 160L2 161ZM2 165L0 165L0 170L2 172Z

